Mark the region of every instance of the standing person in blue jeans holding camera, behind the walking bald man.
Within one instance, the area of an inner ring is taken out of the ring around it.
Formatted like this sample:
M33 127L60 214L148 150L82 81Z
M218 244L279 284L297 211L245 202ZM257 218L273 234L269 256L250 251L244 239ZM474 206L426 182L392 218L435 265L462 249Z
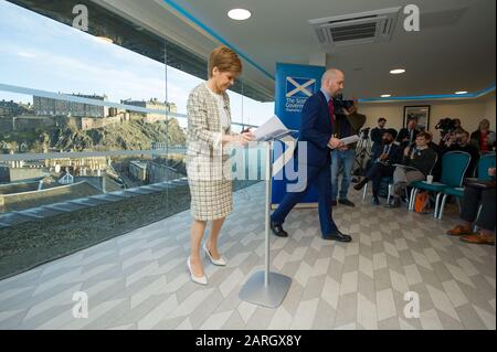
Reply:
M345 138L358 135L361 127L366 122L366 116L358 114L357 99L342 100L338 97L334 100L336 106L336 120L334 126L334 134L336 138ZM356 206L347 199L352 177L352 166L356 158L357 143L343 146L331 151L331 205L337 205L337 195L339 193L338 203L347 206ZM340 169L343 170L340 192L338 191L338 173Z

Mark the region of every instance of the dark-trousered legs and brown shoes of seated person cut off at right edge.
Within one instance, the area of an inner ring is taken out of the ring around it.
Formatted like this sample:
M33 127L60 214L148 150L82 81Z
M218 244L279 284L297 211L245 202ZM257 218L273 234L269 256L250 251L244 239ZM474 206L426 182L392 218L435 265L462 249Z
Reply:
M488 174L495 178L495 168L488 169ZM478 214L479 204L482 212ZM461 236L461 241L475 244L495 245L495 188L479 189L466 186L464 191L464 205L461 211L462 223L453 230L447 231L447 235ZM473 223L476 220L477 233L473 233Z

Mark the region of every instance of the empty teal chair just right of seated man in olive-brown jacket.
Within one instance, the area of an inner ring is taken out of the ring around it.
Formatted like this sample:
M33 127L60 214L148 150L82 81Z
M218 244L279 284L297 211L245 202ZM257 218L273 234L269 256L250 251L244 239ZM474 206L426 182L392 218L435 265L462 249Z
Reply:
M413 190L411 194L412 209L414 207L414 200L419 191L422 190L434 192L436 193L436 199L435 199L435 212L433 214L433 217L438 218L438 209L440 209L438 204L443 191L450 188L452 189L462 188L464 173L466 172L467 167L469 166L470 159L472 159L470 154L465 151L450 151L443 154L441 182L432 182L432 183L427 183L426 181L413 182L412 184ZM457 190L456 192L458 191L461 190Z

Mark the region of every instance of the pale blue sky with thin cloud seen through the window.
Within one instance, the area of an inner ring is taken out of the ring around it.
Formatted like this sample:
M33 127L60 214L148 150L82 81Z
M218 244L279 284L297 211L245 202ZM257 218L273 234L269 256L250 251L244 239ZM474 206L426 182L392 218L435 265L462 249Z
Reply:
M189 92L202 81L170 66L167 70L166 82L165 64L0 0L1 84L105 94L114 103L127 98L163 102L167 96L178 113L186 114ZM258 103L234 92L229 95L234 122L262 125L274 115L274 103ZM30 96L8 92L0 92L1 99L32 103Z

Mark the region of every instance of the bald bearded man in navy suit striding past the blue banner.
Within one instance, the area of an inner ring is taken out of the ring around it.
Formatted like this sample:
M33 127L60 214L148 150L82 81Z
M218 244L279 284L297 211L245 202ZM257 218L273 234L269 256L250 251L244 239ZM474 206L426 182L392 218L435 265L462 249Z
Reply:
M302 110L300 135L297 148L306 148L307 160L298 160L299 179L305 179L304 190L288 192L277 210L271 215L271 228L276 236L287 237L283 230L285 217L316 183L319 196L319 223L324 239L350 242L351 237L342 234L331 216L331 157L330 148L343 147L332 137L335 108L332 97L343 89L343 73L328 70L321 78L320 92L307 99ZM304 158L305 159L305 158ZM304 173L304 174L303 174Z

